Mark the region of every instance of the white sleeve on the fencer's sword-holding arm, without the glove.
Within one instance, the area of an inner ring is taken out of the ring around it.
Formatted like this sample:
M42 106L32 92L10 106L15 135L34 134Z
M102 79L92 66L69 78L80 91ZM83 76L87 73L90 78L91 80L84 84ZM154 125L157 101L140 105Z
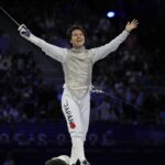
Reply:
M37 36L31 34L28 38L31 43L35 44L42 51L53 59L56 59L61 63L64 63L66 55L67 55L67 48L62 48L52 44L46 43L44 40L38 38Z

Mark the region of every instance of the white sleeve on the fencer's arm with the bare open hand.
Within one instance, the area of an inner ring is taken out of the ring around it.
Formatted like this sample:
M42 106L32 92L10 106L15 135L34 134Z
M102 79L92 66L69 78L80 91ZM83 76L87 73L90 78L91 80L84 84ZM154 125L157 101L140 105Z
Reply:
M120 35L118 35L108 44L100 47L91 48L92 62L96 63L97 61L102 59L110 53L114 52L119 47L119 45L128 37L128 35L129 32L124 30Z

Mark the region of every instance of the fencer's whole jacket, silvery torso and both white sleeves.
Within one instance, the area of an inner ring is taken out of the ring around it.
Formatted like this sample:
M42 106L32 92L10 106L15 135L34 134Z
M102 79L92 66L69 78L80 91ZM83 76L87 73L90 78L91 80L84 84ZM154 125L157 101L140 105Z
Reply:
M53 59L62 63L65 76L64 87L68 88L73 97L81 99L90 90L94 64L114 52L128 35L129 32L124 30L108 44L90 50L85 47L62 48L48 44L33 34L26 40L41 47Z

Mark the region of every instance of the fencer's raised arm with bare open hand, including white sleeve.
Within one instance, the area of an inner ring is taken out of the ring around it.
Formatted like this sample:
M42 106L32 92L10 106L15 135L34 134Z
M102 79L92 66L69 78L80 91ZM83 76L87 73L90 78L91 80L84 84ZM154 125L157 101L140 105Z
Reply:
M92 56L94 63L99 61L99 59L105 58L111 52L114 52L120 46L120 44L123 41L125 41L125 38L130 34L130 32L132 30L134 30L135 28L138 28L138 24L139 24L139 22L135 19L131 22L128 22L124 31L120 35L118 35L116 38L113 38L111 42L109 42L108 44L106 44L103 46L92 48L91 51L94 54L94 56Z

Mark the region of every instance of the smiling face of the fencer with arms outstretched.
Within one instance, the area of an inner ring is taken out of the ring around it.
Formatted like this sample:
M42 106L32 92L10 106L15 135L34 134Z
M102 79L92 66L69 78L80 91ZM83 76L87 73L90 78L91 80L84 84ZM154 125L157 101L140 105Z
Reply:
M70 43L73 47L80 48L85 44L85 35L80 30L74 30L72 32Z

